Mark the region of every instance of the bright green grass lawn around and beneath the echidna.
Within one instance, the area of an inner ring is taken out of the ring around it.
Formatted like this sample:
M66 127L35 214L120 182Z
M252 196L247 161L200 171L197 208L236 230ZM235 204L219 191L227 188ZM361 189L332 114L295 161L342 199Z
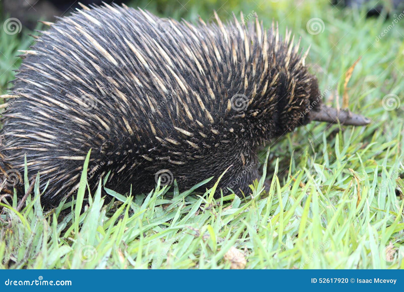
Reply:
M175 15L176 1L146 8L191 20L198 13L209 19L207 9L213 8L223 18L231 14L228 9L254 10L266 26L275 19L282 31L287 26L302 36L303 49L311 44L306 63L320 88L330 88L328 105L342 105L345 71L362 56L348 84L349 109L372 123L356 128L312 123L271 141L269 156L260 155L271 189L263 192L263 181L255 182L252 196L242 200L234 195L214 200L215 188L196 196L158 186L134 198L109 190L114 200L104 206L101 189L83 200L82 183L76 197L82 214L70 203L43 214L36 185L20 212L16 198L12 206L2 204L0 267L229 268L225 254L234 246L249 269L404 268L403 109L382 102L390 95L397 103L404 92L404 19L388 29L393 17L367 19L364 11L332 8L328 1L265 2L261 8L252 1L222 8L219 2L200 2L183 2L186 10ZM137 6L147 3L142 4ZM307 32L312 18L324 22L324 32ZM16 49L30 41L0 29L4 93L11 70L18 68ZM386 110L390 106L394 109Z

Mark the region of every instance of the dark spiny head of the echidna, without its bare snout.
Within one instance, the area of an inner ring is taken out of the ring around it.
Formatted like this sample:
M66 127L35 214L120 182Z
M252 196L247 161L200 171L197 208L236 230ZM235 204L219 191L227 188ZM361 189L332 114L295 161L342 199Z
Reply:
M290 62L285 64L285 50L287 47L269 59L269 63L278 65L269 71L267 80L264 78L259 84L259 90L255 86L251 88L246 110L238 113L238 116L245 114L257 141L280 137L304 126L313 120L313 113L321 109L322 95L317 78L302 65L298 55L290 56ZM234 95L232 105L240 103L242 97Z

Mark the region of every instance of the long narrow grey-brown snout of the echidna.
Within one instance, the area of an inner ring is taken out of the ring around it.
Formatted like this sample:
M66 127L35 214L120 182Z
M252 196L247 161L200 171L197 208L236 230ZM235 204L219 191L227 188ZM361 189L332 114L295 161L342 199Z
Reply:
M328 123L338 123L341 125L351 125L351 126L366 126L371 122L370 119L358 115L356 113L351 113L345 110L337 110L333 107L327 107L322 105L319 111L310 111L310 118L313 121L328 122Z

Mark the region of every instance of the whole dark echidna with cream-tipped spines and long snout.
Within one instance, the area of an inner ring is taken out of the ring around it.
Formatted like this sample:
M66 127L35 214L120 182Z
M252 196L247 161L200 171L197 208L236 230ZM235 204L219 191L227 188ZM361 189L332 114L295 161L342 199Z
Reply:
M105 186L120 193L149 192L160 175L189 189L233 165L220 187L248 194L263 141L311 120L368 123L321 106L307 53L277 25L264 30L256 17L223 24L216 13L217 24L192 25L125 5L82 8L46 23L3 96L4 181L22 182L26 155L29 178L40 173L42 206L76 191L90 149L92 188L110 172Z

